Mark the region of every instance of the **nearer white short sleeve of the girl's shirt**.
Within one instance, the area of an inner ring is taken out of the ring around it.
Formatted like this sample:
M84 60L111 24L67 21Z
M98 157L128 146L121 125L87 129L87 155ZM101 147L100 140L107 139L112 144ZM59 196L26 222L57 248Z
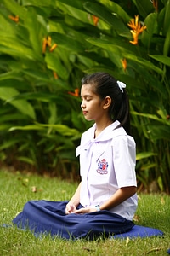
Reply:
M122 135L113 138L113 166L119 188L137 186L136 145L133 137Z

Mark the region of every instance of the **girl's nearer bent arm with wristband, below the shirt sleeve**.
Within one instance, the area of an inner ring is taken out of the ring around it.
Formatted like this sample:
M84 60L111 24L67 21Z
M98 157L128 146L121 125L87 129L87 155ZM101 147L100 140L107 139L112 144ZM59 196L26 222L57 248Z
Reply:
M127 198L131 197L136 193L136 187L124 187L121 189L118 189L114 195L111 196L111 198L101 206L99 206L100 210L110 210L113 207L118 206L123 201L127 200ZM88 212L96 212L96 208L81 208L80 210L77 210L76 213L88 213Z

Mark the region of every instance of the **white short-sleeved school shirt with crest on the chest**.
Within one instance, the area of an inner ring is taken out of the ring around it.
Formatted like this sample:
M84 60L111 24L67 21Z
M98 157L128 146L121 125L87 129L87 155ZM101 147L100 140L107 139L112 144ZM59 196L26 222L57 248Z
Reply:
M122 127L116 128L119 124L107 126L96 138L95 124L82 134L76 154L80 155L80 202L84 207L102 205L117 189L137 186L135 142ZM110 211L132 220L137 204L135 194Z

